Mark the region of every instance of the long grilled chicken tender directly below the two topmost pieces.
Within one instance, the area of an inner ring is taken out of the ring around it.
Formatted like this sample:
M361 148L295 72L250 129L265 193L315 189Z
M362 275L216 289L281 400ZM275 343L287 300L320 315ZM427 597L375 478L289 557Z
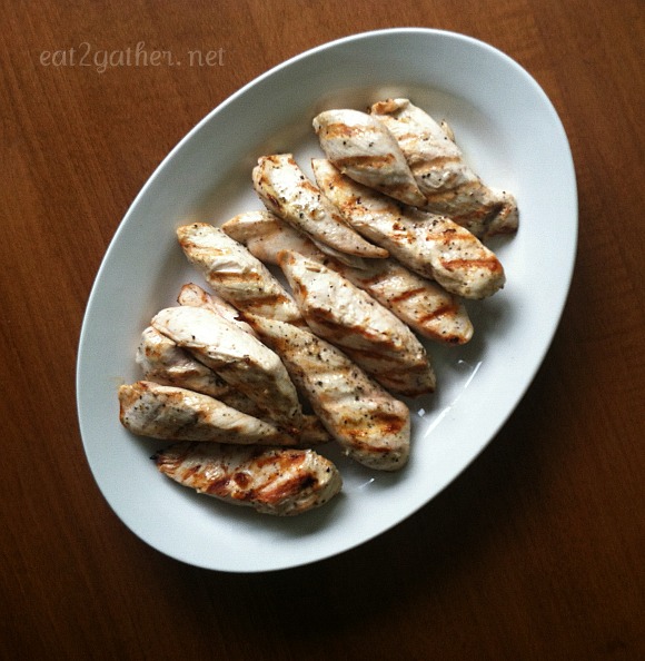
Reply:
M312 168L345 219L408 268L464 298L485 298L504 286L502 264L466 228L357 184L327 159L314 159Z

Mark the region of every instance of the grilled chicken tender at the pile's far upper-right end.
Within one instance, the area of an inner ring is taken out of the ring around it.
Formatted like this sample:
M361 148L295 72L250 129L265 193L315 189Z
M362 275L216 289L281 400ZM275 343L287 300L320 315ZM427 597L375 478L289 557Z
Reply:
M452 131L409 99L379 101L371 107L371 116L396 138L426 197L427 210L449 216L479 238L517 229L513 195L484 185L466 164Z

